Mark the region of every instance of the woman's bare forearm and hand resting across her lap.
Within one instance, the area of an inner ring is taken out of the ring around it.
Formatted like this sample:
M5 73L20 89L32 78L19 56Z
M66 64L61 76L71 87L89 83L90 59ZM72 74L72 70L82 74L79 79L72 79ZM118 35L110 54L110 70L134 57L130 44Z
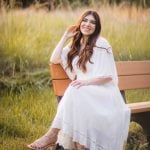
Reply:
M89 80L74 80L70 83L71 86L80 88L81 86L88 85L103 85L112 81L112 77L98 77Z

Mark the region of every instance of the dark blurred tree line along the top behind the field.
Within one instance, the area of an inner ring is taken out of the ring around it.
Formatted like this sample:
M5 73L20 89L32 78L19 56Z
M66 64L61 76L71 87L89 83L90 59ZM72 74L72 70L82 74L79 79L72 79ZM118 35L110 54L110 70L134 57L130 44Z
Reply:
M39 7L47 7L49 10L53 10L60 7L65 8L67 6L72 8L90 6L96 3L109 5L127 4L129 6L136 5L136 7L143 8L150 7L150 0L0 0L0 8L27 8L31 5L38 5Z

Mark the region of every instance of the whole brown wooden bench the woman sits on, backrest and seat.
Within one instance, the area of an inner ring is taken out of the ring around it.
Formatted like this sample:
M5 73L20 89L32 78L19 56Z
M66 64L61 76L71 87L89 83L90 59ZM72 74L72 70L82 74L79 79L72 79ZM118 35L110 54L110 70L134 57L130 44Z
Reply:
M125 102L126 90L150 88L150 61L119 61L116 62L116 66L119 88ZM50 73L54 93L60 100L71 80L59 64L50 64ZM131 120L141 124L150 135L150 101L127 105L131 108Z

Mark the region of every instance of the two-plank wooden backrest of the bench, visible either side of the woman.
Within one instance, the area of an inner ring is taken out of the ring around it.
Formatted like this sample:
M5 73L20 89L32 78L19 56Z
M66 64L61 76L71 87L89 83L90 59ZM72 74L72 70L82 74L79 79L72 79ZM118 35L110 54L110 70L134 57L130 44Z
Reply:
M120 90L150 88L150 61L116 62ZM60 64L50 64L54 93L62 96L71 80Z

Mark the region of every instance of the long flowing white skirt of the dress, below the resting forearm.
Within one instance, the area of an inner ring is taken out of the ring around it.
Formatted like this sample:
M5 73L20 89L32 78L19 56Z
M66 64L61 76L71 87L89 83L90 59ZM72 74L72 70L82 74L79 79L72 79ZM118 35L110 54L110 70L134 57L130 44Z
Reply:
M59 103L52 128L60 129L58 142L74 149L74 142L90 150L123 150L130 109L118 87L69 86Z

